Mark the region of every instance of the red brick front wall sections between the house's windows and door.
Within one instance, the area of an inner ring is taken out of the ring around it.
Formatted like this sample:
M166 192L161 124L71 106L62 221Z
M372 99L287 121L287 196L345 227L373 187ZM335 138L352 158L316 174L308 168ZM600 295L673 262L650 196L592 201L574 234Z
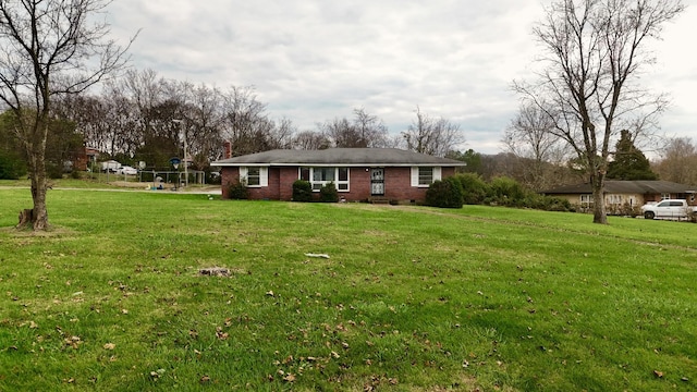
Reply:
M455 174L455 168L442 168L442 177ZM297 167L269 168L269 186L249 187L250 199L288 200L293 197L293 182L298 179ZM222 198L229 198L228 186L240 181L240 169L222 168ZM370 194L370 168L350 168L350 192L339 192L346 201L366 201ZM384 197L395 201L424 201L428 187L412 186L412 168L384 168Z

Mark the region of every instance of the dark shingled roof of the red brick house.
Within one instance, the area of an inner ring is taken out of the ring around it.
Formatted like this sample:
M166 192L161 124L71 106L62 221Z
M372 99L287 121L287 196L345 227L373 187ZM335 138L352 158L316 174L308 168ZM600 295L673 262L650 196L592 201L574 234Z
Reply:
M328 148L323 150L277 149L223 159L212 162L211 166L464 167L466 163L398 148Z

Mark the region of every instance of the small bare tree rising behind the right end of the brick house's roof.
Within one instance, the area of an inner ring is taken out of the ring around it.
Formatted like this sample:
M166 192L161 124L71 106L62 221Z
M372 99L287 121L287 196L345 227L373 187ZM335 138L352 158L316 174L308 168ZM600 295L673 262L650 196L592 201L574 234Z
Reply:
M460 125L441 118L430 118L416 108L416 120L402 133L406 148L436 157L444 157L465 142Z

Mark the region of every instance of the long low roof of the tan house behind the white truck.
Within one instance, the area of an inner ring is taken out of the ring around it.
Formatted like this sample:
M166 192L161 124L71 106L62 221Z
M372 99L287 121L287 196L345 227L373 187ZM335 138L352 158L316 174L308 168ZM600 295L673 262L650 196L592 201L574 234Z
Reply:
M683 194L694 192L695 187L670 181L606 181L608 194ZM590 194L590 183L560 186L545 191L547 195Z

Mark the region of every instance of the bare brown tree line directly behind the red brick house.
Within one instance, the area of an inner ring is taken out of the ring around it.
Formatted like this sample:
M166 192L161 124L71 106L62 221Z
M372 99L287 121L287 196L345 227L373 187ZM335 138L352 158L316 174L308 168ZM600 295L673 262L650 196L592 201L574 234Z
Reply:
M167 168L171 157L183 156L185 144L192 167L208 170L222 158L223 140L231 142L233 156L278 148L395 147L442 157L464 143L458 125L419 108L415 113L413 123L396 134L364 108L299 131L289 119L272 119L253 87L197 86L159 77L151 70L131 70L106 83L98 95L54 98L49 126L54 143L47 143L47 161L52 174L60 174L63 162L86 146L103 152L105 159ZM12 156L12 126L0 124L3 167L10 167L4 160L21 163ZM16 167L22 171L22 164Z

